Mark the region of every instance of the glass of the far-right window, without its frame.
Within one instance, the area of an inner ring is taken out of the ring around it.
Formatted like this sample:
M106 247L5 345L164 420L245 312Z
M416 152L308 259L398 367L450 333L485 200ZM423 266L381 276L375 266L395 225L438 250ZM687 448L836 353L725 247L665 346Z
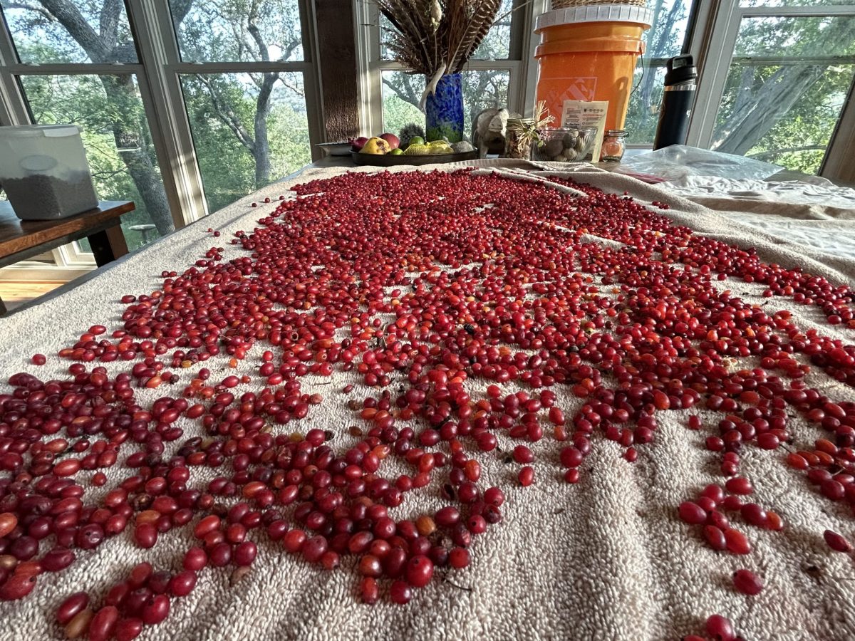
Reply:
M855 17L743 19L711 148L817 173L852 86L853 41Z

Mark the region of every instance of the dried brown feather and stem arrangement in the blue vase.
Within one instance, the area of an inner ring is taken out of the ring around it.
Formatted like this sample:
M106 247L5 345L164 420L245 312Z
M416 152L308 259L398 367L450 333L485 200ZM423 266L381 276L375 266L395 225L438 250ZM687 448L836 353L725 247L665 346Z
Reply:
M422 104L444 74L458 74L496 19L501 0L377 0L392 23L388 49L427 83Z

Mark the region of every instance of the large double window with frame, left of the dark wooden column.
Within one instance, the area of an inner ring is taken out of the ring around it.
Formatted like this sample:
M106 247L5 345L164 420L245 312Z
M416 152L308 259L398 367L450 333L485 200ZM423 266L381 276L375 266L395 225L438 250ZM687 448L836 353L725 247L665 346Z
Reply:
M79 125L99 197L136 203L121 219L136 249L310 162L310 7L0 0L0 121Z

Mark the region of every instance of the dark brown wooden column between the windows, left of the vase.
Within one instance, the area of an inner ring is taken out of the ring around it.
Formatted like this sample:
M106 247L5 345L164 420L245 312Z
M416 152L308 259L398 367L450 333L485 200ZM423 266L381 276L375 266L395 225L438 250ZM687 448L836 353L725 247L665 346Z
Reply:
M327 142L359 135L357 44L351 0L315 0Z

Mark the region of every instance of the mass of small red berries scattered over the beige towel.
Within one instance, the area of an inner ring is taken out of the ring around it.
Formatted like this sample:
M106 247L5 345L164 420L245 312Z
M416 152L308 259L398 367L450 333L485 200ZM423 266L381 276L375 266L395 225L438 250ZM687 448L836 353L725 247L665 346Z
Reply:
M158 291L122 297L120 326L91 326L58 352L73 361L66 375L11 376L0 393L0 599L26 597L126 528L144 549L184 528L179 572L141 563L103 594L69 596L56 612L68 636L134 638L205 567L239 578L259 547L327 569L358 556L365 603L383 584L407 603L438 568L469 565L473 537L502 520L503 491L481 479L497 435L516 442L520 485L553 482L531 465L529 445L543 438L575 483L593 433L634 462L657 415L675 409L720 417L705 426L693 414L687 427L709 432L726 480L677 509L713 549L751 551L734 520L785 527L748 502L739 466L746 448L789 450L787 409L827 432L787 464L855 506L855 403L805 384L811 371L855 384L855 346L721 281L762 284L763 297L815 306L839 329L855 327L852 291L561 182L587 196L469 171L299 185L234 234L238 257L211 247L164 271ZM746 356L759 367L732 367ZM369 388L347 403L353 426L300 430L323 411L324 398L302 390L308 375L351 379L333 393ZM150 390L163 396L142 402ZM345 432L356 444L334 447ZM409 471L390 476L392 459ZM216 476L199 486L192 468ZM119 480L91 500L87 485L106 485L105 472ZM448 504L396 518L428 484ZM839 534L826 540L850 550ZM740 570L734 586L752 595L763 583ZM734 638L719 619L708 632Z

